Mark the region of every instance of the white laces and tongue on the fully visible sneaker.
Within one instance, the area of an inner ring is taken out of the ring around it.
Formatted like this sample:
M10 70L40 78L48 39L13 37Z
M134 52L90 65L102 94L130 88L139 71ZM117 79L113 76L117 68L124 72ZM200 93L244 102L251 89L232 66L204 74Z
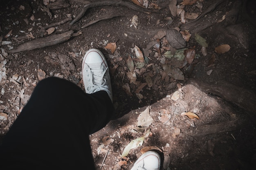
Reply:
M106 70L91 69L92 85L87 87L87 90L89 91L89 93L95 93L95 92L101 91L101 90L107 91L108 93L110 93L110 91L108 90L108 84L106 84L107 81L105 78L103 78L105 76L107 69L108 69L108 67L106 68Z

